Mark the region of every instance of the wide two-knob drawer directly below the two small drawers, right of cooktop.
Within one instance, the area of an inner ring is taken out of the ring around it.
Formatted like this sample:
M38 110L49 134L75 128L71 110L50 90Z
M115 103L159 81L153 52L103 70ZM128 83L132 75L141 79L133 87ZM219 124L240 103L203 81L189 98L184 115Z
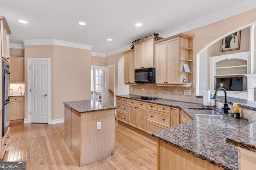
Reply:
M147 120L164 127L170 127L171 115L160 111L147 110Z

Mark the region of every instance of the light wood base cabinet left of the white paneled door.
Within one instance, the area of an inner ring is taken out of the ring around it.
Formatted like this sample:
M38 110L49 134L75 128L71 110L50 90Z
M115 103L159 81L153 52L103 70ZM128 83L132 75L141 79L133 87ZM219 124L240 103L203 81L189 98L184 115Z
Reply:
M24 121L24 96L10 97L10 123Z

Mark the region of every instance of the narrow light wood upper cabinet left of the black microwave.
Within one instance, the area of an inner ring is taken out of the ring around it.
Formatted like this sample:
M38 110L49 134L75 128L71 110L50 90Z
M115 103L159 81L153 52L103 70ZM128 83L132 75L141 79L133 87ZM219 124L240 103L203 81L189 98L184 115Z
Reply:
M134 80L134 49L124 51L124 83L135 84Z

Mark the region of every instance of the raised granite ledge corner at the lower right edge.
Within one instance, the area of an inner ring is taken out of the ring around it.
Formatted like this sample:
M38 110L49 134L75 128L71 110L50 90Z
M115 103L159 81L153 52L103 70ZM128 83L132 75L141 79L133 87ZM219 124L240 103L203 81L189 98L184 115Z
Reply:
M256 152L256 122L235 131L226 137L226 142Z

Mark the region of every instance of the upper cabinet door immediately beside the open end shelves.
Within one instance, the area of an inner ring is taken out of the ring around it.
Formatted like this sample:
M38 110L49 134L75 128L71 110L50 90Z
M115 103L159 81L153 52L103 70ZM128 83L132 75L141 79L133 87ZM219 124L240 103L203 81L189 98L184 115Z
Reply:
M180 38L166 41L166 82L180 84Z

